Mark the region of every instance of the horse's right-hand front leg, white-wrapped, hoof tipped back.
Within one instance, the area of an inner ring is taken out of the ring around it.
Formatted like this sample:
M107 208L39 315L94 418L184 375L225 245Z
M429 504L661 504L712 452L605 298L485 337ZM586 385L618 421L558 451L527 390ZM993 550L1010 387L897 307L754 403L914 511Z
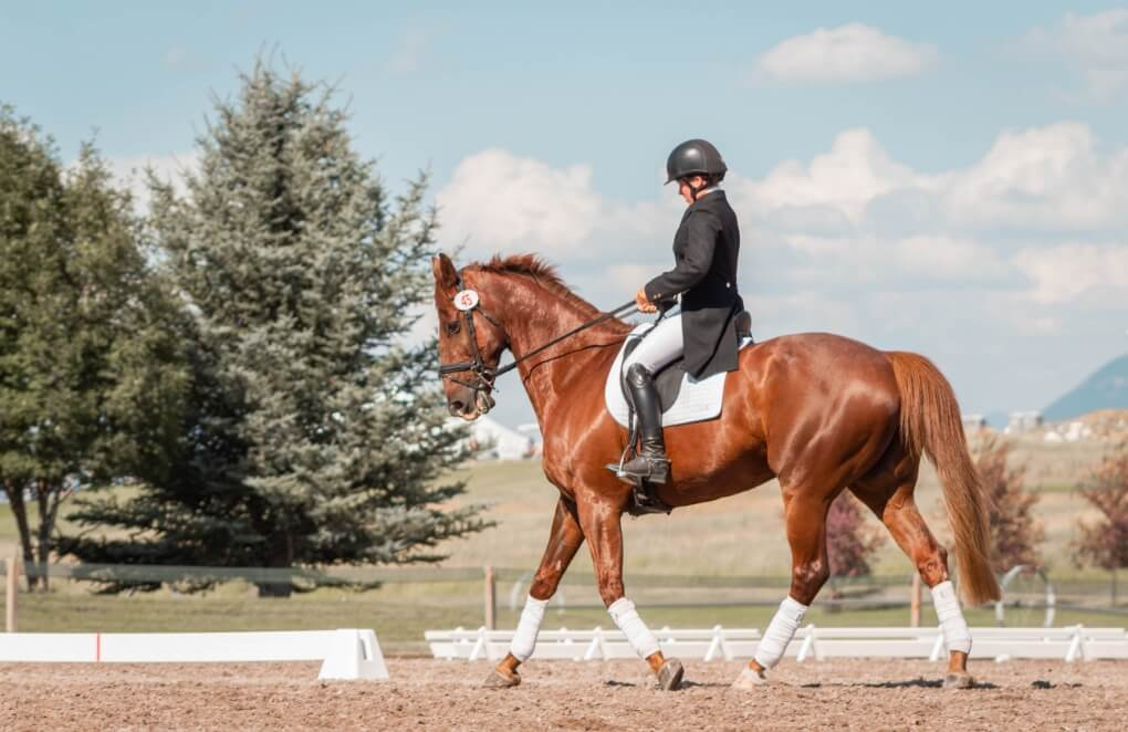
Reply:
M659 686L668 691L677 689L681 686L685 673L681 662L677 659L667 660L662 655L658 638L638 617L634 602L623 591L623 505L598 497L581 501L579 508L580 526L588 538L588 548L596 566L599 597L607 606L607 611L627 636L638 658L645 659L650 664Z

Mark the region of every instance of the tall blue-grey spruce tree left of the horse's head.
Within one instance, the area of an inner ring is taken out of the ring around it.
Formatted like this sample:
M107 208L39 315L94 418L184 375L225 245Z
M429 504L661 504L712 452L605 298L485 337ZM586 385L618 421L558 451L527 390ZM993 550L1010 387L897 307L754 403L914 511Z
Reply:
M479 530L441 509L465 456L433 344L403 345L429 292L425 178L388 200L332 90L257 62L217 102L186 196L152 180L152 236L192 321L191 449L164 482L76 519L144 538L88 561L292 567L438 561ZM289 584L262 584L264 594Z

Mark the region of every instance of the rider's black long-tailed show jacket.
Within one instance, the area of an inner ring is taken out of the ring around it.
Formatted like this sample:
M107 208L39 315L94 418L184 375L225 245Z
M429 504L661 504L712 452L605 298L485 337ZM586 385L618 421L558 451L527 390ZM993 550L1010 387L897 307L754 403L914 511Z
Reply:
M671 305L681 296L686 371L696 379L737 370L739 339L733 323L744 309L737 293L740 229L724 191L697 199L673 236L677 266L646 283L651 302Z

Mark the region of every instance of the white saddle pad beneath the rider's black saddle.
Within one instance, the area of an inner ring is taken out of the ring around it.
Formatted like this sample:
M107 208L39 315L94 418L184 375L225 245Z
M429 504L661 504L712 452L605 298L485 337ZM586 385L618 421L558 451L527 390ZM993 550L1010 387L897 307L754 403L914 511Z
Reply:
M672 317L679 318L681 316ZM752 318L747 311L741 311L735 316L737 335L740 337L741 349L754 343L750 333L751 323ZM644 323L631 332L618 356L616 356L615 363L611 364L603 388L607 411L610 412L616 422L628 429L631 427L631 403L623 385L623 363L653 327L653 324ZM658 389L659 403L662 405L662 426L669 427L719 417L721 405L724 402L724 373L714 373L704 379L695 379L686 373L685 360L680 358L663 367L654 374L654 386Z

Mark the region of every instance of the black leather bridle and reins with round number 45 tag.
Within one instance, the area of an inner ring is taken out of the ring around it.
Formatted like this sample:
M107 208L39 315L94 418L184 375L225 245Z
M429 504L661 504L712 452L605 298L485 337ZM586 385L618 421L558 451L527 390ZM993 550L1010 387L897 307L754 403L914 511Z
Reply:
M474 405L475 407L477 407L478 414L487 413L496 404L493 399L493 396L491 396L491 391L493 391L496 388L494 386L494 382L497 380L497 377L508 371L512 371L513 369L517 368L517 364L520 363L521 361L535 356L536 354L556 345L561 341L570 338L573 335L580 333L581 330L585 330L592 326L599 325L600 323L615 318L619 315L628 315L636 307L634 300L624 302L614 310L600 314L599 317L592 318L591 320L587 320L585 323L582 323L575 328L572 328L564 335L557 336L552 341L549 341L548 343L545 343L544 345L537 346L532 351L529 351L525 355L513 359L513 361L511 361L510 363L506 363L505 365L502 367L493 368L485 362L485 359L482 358L482 347L478 345L478 332L477 328L474 326L474 312L477 311L482 314L483 318L488 320L491 325L501 330L502 337L504 338L504 343L506 346L510 345L509 334L505 333L505 328L504 326L502 326L501 321L497 320L497 318L495 318L494 316L490 315L486 311L486 309L482 307L482 303L479 302L478 299L478 293L474 290L468 290L464 286L461 272L455 273L455 286L458 288L458 292L455 293L455 297L451 300L455 303L455 308L462 314L462 319L466 323L466 337L470 344L470 360L457 361L455 363L440 363L439 378L450 379L455 383L464 386L474 391ZM458 330L461 329L462 329L461 327L458 328ZM448 329L448 333L450 333L450 335L456 335L458 330ZM453 376L456 373L466 373L466 372L469 372L473 376L473 381L464 380Z

